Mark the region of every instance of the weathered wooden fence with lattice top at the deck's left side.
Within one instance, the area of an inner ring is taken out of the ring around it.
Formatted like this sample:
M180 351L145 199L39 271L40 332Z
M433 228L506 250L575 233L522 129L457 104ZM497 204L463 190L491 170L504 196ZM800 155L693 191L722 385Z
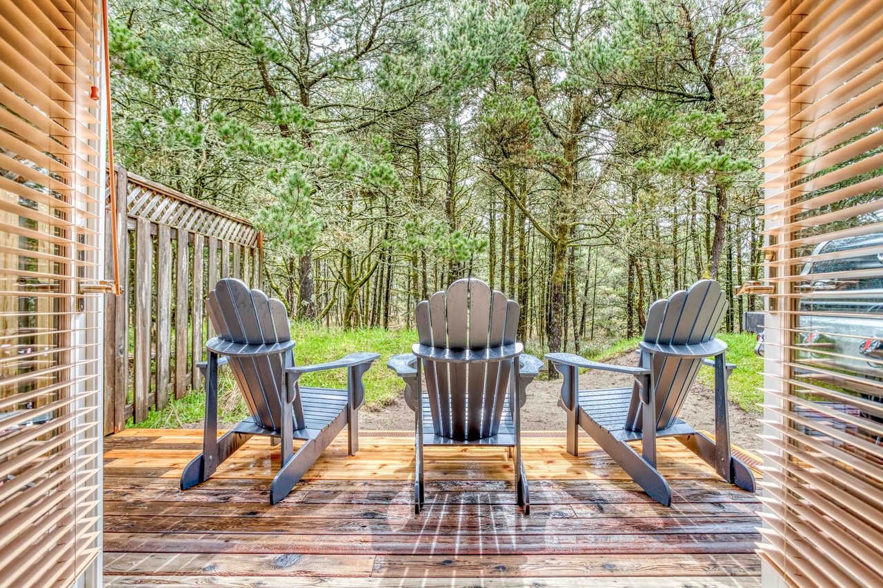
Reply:
M117 167L120 296L104 308L104 433L200 388L211 336L205 297L221 277L260 288L262 236L250 222ZM109 191L108 191L109 198ZM108 215L105 275L112 276Z

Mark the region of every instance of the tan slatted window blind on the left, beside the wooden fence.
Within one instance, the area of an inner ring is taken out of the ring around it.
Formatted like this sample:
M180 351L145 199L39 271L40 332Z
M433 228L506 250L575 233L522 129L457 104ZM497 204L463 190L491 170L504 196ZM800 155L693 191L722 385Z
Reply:
M0 0L0 584L100 552L103 222L94 0Z

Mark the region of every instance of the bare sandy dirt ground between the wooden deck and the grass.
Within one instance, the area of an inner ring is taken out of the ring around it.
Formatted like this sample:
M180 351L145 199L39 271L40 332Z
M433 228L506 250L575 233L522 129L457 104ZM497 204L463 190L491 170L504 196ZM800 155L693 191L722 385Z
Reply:
M634 353L609 359L608 363L620 366L634 366L637 357ZM631 377L623 373L608 373L592 370L579 378L581 389L615 388L631 385ZM561 380L534 381L527 388L527 403L522 412L522 429L525 431L563 431L564 412L558 408ZM681 418L699 430L714 431L714 392L702 384L695 383L690 396L683 404ZM729 430L732 442L757 453L760 449L758 434L761 426L758 416L743 411L734 403L729 405ZM404 399L389 404L380 410L362 409L359 413L359 426L373 431L407 431L414 426L414 413Z

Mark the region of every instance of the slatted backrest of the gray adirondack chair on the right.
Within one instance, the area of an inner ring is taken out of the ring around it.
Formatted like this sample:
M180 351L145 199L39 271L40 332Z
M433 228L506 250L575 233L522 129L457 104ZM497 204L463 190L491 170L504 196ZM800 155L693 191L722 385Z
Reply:
M648 343L684 345L713 339L727 310L727 298L721 284L700 280L689 290L679 290L667 300L657 300L647 313L644 340ZM690 392L702 365L698 358L653 358L656 394L656 426L671 426ZM641 403L632 395L626 428L642 427Z

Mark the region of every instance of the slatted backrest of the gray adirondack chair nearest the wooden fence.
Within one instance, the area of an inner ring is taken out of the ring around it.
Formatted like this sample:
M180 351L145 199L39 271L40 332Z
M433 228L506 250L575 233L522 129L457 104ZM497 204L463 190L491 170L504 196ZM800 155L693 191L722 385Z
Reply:
M250 290L236 278L218 280L215 290L208 293L206 310L223 341L252 345L291 341L291 325L282 301ZM284 369L293 365L291 358L291 352L228 358L248 411L260 426L278 429L282 425Z

